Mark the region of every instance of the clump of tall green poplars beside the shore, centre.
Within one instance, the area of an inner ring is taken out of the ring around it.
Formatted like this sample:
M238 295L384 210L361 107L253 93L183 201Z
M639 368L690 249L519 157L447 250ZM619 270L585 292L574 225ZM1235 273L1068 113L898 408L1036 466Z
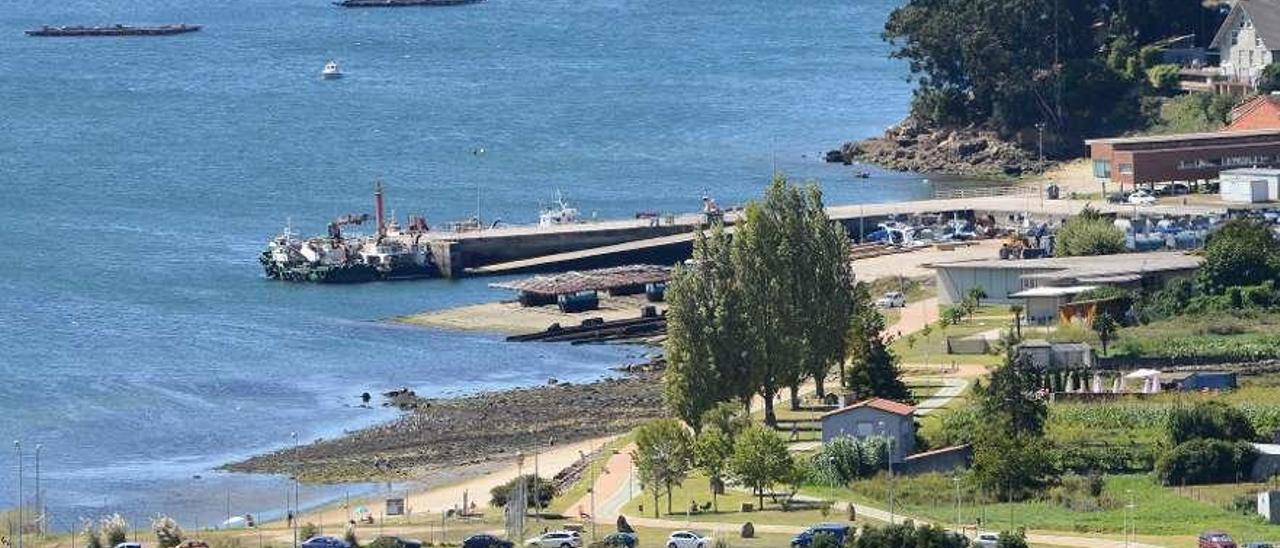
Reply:
M860 396L910 397L881 335L883 320L854 283L849 237L827 216L814 184L777 175L732 229L714 225L700 234L667 300L664 397L695 431L717 403L750 407L755 396L765 424L776 425L773 405L783 389L792 407L806 379L824 397L837 366Z

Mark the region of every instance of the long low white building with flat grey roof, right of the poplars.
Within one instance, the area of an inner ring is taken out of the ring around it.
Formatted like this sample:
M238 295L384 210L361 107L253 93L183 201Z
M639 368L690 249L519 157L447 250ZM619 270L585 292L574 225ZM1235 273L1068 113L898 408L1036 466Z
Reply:
M1164 286L1171 278L1194 274L1202 261L1202 257L1180 251L1156 251L1089 257L979 259L937 262L932 268L942 305L957 303L972 288L980 287L987 293L984 302L1056 310L1056 305L1101 286Z

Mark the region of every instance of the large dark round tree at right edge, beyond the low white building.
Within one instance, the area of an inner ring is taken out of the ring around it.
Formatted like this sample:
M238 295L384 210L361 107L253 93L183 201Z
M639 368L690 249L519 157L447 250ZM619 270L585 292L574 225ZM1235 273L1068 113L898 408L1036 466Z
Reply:
M1231 286L1256 286L1280 275L1280 242L1256 220L1230 220L1204 243L1199 289L1221 294Z

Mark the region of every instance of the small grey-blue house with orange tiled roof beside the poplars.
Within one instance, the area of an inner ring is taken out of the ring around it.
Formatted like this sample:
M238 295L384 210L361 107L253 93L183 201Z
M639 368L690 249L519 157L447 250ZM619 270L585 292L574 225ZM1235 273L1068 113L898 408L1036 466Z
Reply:
M890 438L891 457L902 462L915 451L915 407L884 398L870 398L822 416L822 442L836 438Z

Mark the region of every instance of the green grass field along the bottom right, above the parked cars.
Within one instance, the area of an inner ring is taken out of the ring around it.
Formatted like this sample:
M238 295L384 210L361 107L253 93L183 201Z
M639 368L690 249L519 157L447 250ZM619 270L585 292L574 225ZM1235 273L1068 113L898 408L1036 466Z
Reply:
M950 478L924 475L899 476L895 480L897 508L904 515L919 516L941 524L956 520L955 484ZM888 481L877 479L855 483L846 489L814 489L813 494L886 507ZM1203 488L1203 493L1231 492L1236 487ZM1244 487L1239 487L1244 490ZM1132 497L1132 498L1130 498ZM1075 533L1121 534L1126 515L1138 534L1148 536L1192 538L1202 531L1221 529L1236 540L1280 539L1280 526L1267 525L1261 517L1226 510L1216 501L1224 498L1190 496L1166 488L1148 475L1108 476L1101 510L1071 510L1052 501L1023 503L974 503L972 492L961 488L961 520L973 526L1001 530L1027 528ZM1126 508L1133 501L1132 511ZM1157 543L1158 544L1158 543Z

